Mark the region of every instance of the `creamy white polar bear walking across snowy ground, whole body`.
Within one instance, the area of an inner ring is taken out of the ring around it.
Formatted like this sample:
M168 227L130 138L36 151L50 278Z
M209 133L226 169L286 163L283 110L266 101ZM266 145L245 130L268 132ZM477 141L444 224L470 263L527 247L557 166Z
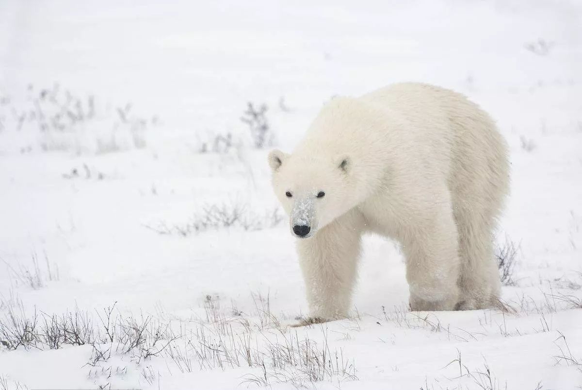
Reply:
M491 307L501 283L493 233L508 148L462 94L399 83L335 97L292 154L268 156L297 237L308 322L345 318L363 233L399 241L410 309Z

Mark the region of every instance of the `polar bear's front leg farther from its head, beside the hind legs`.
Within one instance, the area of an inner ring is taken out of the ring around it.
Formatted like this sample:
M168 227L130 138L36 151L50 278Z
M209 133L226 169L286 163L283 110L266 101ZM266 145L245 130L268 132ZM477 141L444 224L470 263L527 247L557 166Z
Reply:
M452 209L444 207L427 224L411 229L403 244L410 310L456 310L460 263Z

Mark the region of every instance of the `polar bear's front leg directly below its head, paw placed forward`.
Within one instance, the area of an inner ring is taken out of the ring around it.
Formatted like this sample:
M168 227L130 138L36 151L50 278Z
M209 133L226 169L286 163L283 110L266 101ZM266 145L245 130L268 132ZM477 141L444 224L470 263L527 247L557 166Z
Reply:
M297 241L309 315L304 322L347 318L360 255L361 216L350 212Z

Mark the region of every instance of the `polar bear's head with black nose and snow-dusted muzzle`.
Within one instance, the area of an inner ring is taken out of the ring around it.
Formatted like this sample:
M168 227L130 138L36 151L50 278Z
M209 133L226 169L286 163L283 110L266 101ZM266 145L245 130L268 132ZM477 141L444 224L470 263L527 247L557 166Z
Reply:
M353 207L348 156L324 159L272 150L269 166L275 195L289 215L290 229L296 237L313 236Z

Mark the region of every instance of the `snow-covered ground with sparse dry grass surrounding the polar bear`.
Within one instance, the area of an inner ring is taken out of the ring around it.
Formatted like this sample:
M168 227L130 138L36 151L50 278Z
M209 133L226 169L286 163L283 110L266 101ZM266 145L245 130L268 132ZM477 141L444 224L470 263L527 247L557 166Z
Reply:
M581 69L575 0L2 0L0 389L581 386ZM409 80L508 140L509 308L407 312L398 246L367 237L353 318L288 328L303 281L247 102L290 150L331 96Z

